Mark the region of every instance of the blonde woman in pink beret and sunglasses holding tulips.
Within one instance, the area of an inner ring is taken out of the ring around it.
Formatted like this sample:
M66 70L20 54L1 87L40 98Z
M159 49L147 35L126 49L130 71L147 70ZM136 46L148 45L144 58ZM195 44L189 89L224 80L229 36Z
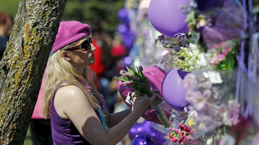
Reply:
M133 107L109 114L92 84L94 63L91 28L77 21L59 24L46 71L42 112L50 118L55 145L115 145L155 99L143 94Z

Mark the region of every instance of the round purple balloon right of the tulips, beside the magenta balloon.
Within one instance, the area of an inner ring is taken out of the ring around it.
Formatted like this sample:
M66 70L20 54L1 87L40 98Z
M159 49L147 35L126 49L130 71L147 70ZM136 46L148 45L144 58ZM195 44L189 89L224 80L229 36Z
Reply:
M185 100L186 89L183 86L183 79L186 72L177 71L177 67L171 69L162 83L162 94L165 102L177 111L184 111L189 103Z

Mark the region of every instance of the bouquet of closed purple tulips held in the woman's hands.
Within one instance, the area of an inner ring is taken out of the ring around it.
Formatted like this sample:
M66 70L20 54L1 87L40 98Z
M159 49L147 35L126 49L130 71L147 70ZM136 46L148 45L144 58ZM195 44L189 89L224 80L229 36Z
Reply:
M150 90L149 80L144 76L142 71L143 67L141 65L137 66L137 71L135 71L132 66L131 68L127 67L127 71L121 70L119 72L121 77L115 78L122 81L124 86L134 89L134 95L132 95L132 97L138 98L142 93L145 93L151 97L152 93ZM157 117L159 118L160 122L165 126L165 128L168 128L170 127L170 123L162 111L162 108L159 106L161 102L162 98L157 96L156 100L151 103L151 108L155 108L155 112L157 113Z

